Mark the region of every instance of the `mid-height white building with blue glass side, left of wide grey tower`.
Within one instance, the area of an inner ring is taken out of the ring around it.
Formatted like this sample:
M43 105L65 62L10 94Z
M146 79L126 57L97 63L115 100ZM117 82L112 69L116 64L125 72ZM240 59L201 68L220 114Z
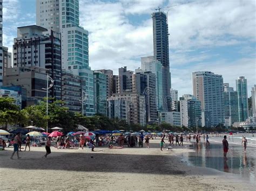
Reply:
M201 126L201 102L190 94L180 97L180 122L182 126L194 128Z

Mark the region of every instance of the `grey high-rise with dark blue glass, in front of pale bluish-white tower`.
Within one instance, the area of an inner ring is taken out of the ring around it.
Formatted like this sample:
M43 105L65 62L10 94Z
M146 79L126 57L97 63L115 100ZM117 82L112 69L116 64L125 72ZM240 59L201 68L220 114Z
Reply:
M156 104L156 75L151 72L143 72L141 69L136 69L133 74L134 93L144 95L146 102L146 123L154 123L157 121L157 104Z

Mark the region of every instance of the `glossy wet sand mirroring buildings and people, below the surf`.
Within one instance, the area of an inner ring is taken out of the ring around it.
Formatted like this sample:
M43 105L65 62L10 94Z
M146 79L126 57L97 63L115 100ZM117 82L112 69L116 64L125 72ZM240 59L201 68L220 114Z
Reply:
M214 168L227 173L240 174L242 177L255 181L254 148L247 148L246 153L242 147L232 145L227 153L227 159L223 157L222 144L192 143L188 148L195 152L183 155L184 160L190 165Z

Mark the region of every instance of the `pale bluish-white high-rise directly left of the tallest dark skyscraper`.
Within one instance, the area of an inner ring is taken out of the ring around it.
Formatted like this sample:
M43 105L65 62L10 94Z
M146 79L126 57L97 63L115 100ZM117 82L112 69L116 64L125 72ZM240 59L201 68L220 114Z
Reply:
M157 110L163 111L163 66L154 56L141 58L142 70L156 75L156 104Z

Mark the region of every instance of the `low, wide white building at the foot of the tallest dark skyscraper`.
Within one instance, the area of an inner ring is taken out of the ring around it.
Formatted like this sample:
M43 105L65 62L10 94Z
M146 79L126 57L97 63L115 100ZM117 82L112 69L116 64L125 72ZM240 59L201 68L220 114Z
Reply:
M160 122L168 123L175 126L181 126L180 112L177 112L177 111L160 112Z

